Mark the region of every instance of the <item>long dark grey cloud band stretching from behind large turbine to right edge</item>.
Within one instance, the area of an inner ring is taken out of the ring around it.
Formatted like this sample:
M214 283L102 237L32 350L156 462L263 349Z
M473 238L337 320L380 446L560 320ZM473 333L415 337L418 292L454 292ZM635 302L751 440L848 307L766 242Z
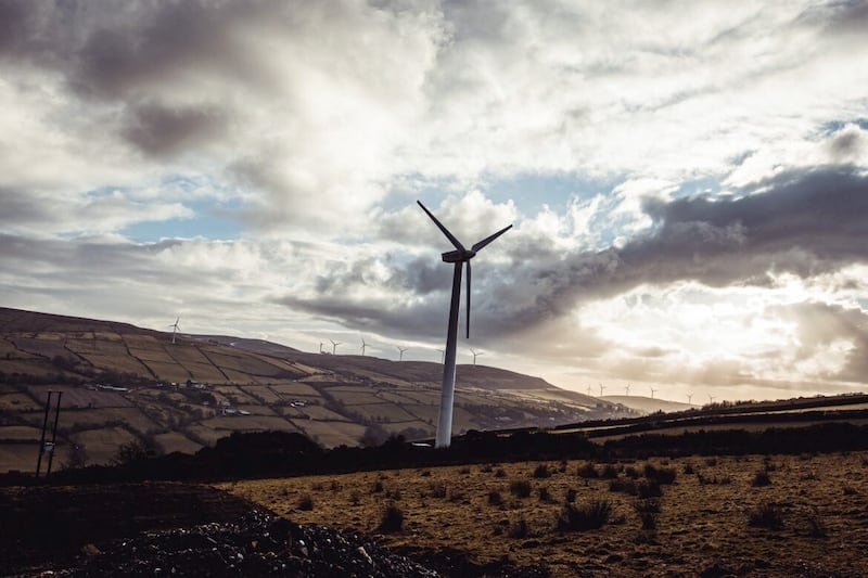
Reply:
M505 236L507 255L521 253L526 258L509 266L474 261L474 333L525 334L583 301L644 283L769 285L771 273L810 278L868 261L868 177L846 167L819 168L778 175L758 187L763 192L738 191L741 196L728 198L649 202L644 210L653 219L650 232L622 248L564 254L544 241L528 246L519 235ZM433 255L427 260L393 269L392 279L409 281L399 285L420 298L419 314L416 307L401 306L396 314L391 304L370 307L354 300L352 291L359 285L341 285L337 279L331 279L329 287L346 290L343 299L336 291L324 300L293 298L292 306L349 326L394 326L437 336L448 308L451 269L435 262ZM420 267L419 278L411 274L413 267ZM434 288L442 291L425 298ZM438 304L432 312L433 300Z

